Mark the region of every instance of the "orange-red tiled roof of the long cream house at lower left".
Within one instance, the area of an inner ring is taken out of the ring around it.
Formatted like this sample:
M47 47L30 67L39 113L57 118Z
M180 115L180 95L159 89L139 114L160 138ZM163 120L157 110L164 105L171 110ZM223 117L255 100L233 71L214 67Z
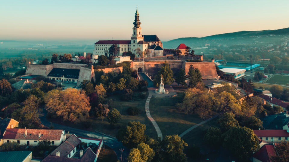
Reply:
M26 129L27 136L25 137L25 129L12 128L6 129L3 139L17 140L60 140L63 130L53 129ZM41 134L39 138L39 132Z

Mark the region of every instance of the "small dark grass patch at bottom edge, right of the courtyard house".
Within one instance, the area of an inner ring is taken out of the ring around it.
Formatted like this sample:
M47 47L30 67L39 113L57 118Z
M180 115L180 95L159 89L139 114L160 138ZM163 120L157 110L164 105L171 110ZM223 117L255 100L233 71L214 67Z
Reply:
M117 155L113 151L113 149L111 149L107 145L104 145L99 152L97 161L98 162L107 162L107 161L116 162L117 161Z

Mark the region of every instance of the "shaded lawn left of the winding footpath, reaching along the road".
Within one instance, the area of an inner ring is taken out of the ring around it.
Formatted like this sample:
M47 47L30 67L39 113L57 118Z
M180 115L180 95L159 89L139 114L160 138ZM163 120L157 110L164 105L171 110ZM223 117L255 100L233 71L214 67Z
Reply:
M98 131L105 134L112 135L114 137L117 136L117 131L121 127L125 127L128 122L130 121L139 121L146 125L146 134L148 134L152 138L157 138L157 132L155 131L151 121L148 120L145 111L144 111L144 105L145 105L145 99L141 99L139 97L140 92L134 92L133 98L131 101L121 101L119 96L120 94L114 94L112 96L107 97L107 99L112 99L111 103L111 109L116 108L118 111L120 111L121 119L117 123L116 128L112 129L110 127L110 123L108 122L107 118L101 120L101 119L95 119L95 118L89 118L87 121L89 122L89 127L85 127L86 124L78 123L74 124L71 122L61 122L59 119L48 119L51 122L56 122L62 125L67 125L73 128L78 129L84 129L87 131ZM148 96L148 92L147 92ZM130 116L126 113L126 110L128 107L137 107L140 110L140 113L136 116Z

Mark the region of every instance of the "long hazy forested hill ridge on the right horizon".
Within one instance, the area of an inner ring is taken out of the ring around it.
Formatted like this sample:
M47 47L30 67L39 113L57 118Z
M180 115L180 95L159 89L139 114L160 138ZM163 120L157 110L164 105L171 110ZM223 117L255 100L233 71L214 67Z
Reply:
M207 37L197 38L197 37L187 37L178 38L170 41L163 42L164 48L176 48L179 44L184 43L190 47L200 47L205 46L205 44L217 43L217 44L250 44L256 41L256 38L251 38L252 36L270 36L275 35L276 37L280 35L289 35L289 28L277 29L277 30L261 30L261 31L241 31L224 33L218 35L210 35ZM259 41L272 41L269 39L260 39Z

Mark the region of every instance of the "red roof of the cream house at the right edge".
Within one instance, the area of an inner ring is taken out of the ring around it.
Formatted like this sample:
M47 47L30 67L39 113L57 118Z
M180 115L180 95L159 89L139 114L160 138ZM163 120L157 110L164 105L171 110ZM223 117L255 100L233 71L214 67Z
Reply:
M289 137L287 130L253 130L257 137Z

